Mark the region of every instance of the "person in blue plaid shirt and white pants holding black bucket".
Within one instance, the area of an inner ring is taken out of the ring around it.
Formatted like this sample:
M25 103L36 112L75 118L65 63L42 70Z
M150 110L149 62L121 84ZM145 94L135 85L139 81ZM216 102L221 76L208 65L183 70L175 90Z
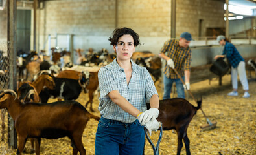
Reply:
M250 94L248 93L249 85L246 77L246 63L244 62L244 59L239 54L239 51L237 50L237 48L235 48L235 45L233 45L232 43L229 43L229 41L226 39L225 36L223 35L218 36L217 41L220 45L224 46L224 50L222 52L222 55L216 55L215 59L218 59L219 57L226 57L229 63L231 64L231 81L232 81L233 91L229 92L227 95L228 96L239 95L239 93L237 92L237 88L238 88L237 74L238 74L240 82L244 89L244 95L242 97L249 98L250 97Z

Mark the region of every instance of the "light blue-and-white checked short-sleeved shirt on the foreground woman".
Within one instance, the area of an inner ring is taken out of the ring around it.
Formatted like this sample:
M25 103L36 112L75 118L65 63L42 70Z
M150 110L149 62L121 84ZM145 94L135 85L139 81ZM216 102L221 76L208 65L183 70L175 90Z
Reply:
M156 87L148 70L145 67L135 64L132 60L131 62L132 77L128 85L124 69L118 65L117 59L109 65L100 68L98 74L100 103L98 109L104 118L124 123L132 123L136 120L134 116L125 112L111 101L108 93L112 90L118 90L122 97L127 99L127 101L141 112L146 110L146 102L154 94L157 94Z

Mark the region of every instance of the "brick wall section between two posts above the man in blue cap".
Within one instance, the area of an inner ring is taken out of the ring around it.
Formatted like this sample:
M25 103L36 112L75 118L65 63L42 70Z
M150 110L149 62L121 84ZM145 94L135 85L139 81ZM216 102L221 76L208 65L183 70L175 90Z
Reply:
M206 36L206 28L224 27L224 3L213 0L177 1L176 34L189 31L192 36L199 34L199 20L203 20L202 36Z

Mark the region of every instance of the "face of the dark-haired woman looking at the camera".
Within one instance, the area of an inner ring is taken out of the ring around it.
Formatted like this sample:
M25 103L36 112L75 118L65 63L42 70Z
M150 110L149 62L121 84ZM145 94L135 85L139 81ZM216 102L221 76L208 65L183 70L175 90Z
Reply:
M135 51L134 38L130 34L124 34L119 37L117 45L114 45L113 48L117 53L117 59L130 60Z

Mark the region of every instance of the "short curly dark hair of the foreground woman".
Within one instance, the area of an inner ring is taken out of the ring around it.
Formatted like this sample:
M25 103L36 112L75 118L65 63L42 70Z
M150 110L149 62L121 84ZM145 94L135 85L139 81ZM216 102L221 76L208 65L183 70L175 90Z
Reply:
M137 45L139 45L139 34L137 34L136 32L134 32L134 30L132 30L131 28L116 28L113 33L112 36L108 38L108 40L110 41L110 45L117 45L117 41L119 39L119 37L122 37L124 34L130 34L133 38L134 38L134 45L137 47Z

